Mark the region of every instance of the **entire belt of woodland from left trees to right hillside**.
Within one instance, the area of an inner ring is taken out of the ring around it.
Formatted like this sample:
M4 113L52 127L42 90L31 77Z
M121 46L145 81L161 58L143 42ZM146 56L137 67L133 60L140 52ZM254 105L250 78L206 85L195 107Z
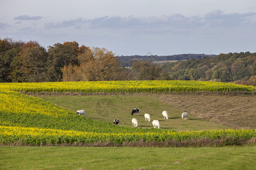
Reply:
M176 60L177 62L155 62ZM160 63L160 64L159 64ZM0 39L0 82L207 80L256 86L256 53L115 56L76 41Z

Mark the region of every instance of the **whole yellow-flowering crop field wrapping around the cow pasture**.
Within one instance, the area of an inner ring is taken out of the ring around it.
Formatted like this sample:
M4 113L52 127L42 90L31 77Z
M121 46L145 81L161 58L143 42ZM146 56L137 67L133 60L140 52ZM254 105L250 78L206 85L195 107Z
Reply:
M250 86L230 83L194 81L121 81L121 82L56 82L0 84L0 144L23 143L93 143L133 141L185 141L192 139L230 139L256 137L255 129L180 131L115 126L79 116L67 109L19 91L197 91L253 90ZM236 142L235 142L236 143ZM234 144L234 142L233 142ZM233 145L230 144L230 145ZM229 145L229 144L227 144Z

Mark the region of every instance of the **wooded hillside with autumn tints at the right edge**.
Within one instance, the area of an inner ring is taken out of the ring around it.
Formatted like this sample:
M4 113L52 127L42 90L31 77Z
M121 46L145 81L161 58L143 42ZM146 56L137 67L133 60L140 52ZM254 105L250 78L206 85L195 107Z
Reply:
M256 86L256 53L228 53L163 66L174 80L213 80Z

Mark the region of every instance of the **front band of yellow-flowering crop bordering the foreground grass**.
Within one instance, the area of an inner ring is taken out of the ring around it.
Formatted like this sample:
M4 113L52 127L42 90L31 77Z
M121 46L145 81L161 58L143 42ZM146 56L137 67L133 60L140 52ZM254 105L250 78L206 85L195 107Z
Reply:
M255 137L253 130L205 130L205 131L145 131L144 133L100 133L75 130L57 130L40 128L23 128L17 126L0 126L0 139L4 144L20 142L25 145L93 143L93 142L131 142L131 141L184 141L191 139L247 139Z

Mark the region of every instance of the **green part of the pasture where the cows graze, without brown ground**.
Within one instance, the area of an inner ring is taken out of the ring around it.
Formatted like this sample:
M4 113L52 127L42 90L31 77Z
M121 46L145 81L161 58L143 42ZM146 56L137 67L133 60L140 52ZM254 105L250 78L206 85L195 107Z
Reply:
M227 126L215 124L208 120L203 120L195 116L189 115L188 120L181 119L181 111L163 103L156 99L153 95L88 95L88 96L72 96L72 95L55 95L55 96L39 96L51 103L67 108L72 112L83 109L88 118L97 119L105 122L113 122L115 118L120 120L121 126L132 127L131 119L137 118L139 127L152 128L152 120L159 120L162 129L170 129L175 131L187 130L213 130L228 129ZM100 105L100 103L102 105ZM133 108L140 108L139 116L131 116ZM169 119L164 120L162 112L167 111ZM146 122L144 113L150 113L151 121Z

